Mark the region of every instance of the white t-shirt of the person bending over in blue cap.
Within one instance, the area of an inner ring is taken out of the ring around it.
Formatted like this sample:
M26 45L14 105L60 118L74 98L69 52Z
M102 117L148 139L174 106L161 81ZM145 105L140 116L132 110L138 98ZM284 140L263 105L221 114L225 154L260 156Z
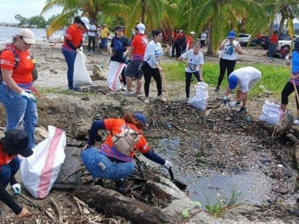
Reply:
M242 93L246 93L249 91L249 86L252 81L257 81L262 77L262 73L260 70L250 66L236 69L230 74L230 76L231 75L235 75L238 77L237 89L241 89Z

